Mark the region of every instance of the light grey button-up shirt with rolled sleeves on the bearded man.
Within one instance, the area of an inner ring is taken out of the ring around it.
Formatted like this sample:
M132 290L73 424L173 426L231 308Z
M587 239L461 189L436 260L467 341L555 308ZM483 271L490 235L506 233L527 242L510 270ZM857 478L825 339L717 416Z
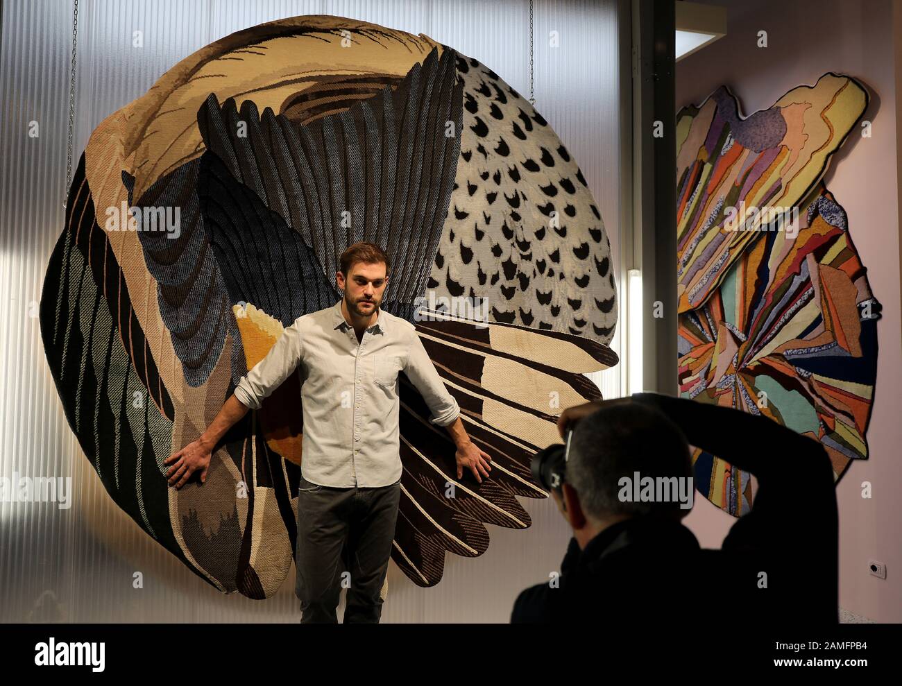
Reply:
M304 414L301 474L311 483L375 487L400 479L400 371L426 400L430 422L450 425L460 414L414 326L382 308L359 343L341 300L299 316L241 378L235 397L257 409L296 369Z

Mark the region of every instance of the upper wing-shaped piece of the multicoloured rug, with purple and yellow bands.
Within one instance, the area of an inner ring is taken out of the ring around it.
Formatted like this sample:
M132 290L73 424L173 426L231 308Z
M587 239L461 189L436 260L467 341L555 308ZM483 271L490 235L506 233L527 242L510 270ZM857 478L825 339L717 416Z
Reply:
M676 115L679 311L701 306L762 226L782 221L823 178L868 102L848 77L825 74L743 119L720 87ZM728 210L735 210L735 217ZM726 219L737 227L723 230Z

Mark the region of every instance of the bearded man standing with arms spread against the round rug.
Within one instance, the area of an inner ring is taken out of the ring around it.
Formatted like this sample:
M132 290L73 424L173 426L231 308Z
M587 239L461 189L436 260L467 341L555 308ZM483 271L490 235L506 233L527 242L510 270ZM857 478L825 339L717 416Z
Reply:
M460 407L415 327L380 308L390 271L391 259L379 246L349 246L336 272L345 296L288 326L207 431L166 459L170 485L180 488L198 470L206 480L211 452L226 431L299 370L304 429L295 562L304 623L336 622L342 561L350 572L345 623L382 616L400 502L400 371L426 400L429 421L454 440L457 478L467 468L482 482L492 470L489 455L466 434Z

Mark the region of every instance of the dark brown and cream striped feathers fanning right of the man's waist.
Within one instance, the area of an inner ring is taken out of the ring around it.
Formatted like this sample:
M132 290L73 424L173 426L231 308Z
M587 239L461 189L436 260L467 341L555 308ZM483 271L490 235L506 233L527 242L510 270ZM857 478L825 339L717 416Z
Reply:
M601 397L583 372L616 363L606 346L573 334L476 325L440 311L428 315L417 333L460 405L467 433L492 455L492 474L482 483L456 479L454 444L428 422L428 407L402 375L399 519L407 525L397 528L392 559L422 586L441 579L446 551L484 552L489 537L483 523L529 526L516 497L544 496L529 471L532 455L556 441L560 407Z

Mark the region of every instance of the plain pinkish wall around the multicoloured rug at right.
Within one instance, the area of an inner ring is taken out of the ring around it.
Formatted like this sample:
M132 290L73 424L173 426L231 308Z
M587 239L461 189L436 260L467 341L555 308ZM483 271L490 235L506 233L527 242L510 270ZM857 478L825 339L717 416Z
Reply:
M840 605L881 622L902 621L902 336L899 302L899 223L896 83L890 0L730 0L726 37L676 65L676 106L700 104L727 84L745 115L767 109L788 90L814 85L824 72L858 78L870 89L864 118L872 137L851 135L833 157L824 181L849 218L851 240L883 306L879 320L877 388L867 439L870 457L853 462L837 485L840 509ZM897 19L897 17L896 17ZM768 47L757 47L759 31ZM900 36L896 34L898 41ZM873 498L861 498L870 481ZM799 484L804 488L804 484ZM719 547L735 521L699 499L687 526L701 544ZM868 561L888 567L886 581ZM800 570L815 575L816 569Z

